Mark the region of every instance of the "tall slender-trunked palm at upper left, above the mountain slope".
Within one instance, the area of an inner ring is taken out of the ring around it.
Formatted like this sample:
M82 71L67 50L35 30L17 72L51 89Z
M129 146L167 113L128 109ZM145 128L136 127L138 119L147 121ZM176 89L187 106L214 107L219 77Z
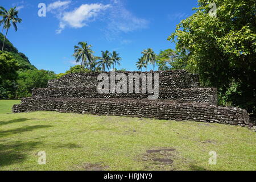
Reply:
M3 30L6 29L5 39L8 34L9 28L11 27L11 24L13 24L15 31L17 31L18 28L16 26L16 23L22 22L22 19L18 17L19 11L15 9L16 7L11 7L11 9L7 11L4 7L0 6L0 16L3 17L3 19L0 20L0 24L3 23ZM3 39L2 51L3 47L5 46L5 39Z

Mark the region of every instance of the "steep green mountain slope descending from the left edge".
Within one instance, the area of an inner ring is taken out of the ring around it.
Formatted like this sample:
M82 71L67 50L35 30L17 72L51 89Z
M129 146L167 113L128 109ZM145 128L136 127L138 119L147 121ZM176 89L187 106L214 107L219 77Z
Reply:
M0 48L2 48L4 38L5 36L0 33ZM5 47L3 48L3 51L7 51L11 56L14 57L19 64L20 71L36 69L36 67L30 63L27 56L24 55L24 53L19 52L8 39L5 39Z

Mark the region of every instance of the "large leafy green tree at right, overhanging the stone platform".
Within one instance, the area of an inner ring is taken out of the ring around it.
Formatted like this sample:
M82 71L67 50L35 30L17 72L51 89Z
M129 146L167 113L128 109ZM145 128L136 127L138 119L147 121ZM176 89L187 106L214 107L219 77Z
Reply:
M216 3L217 14L212 16ZM187 56L184 65L220 92L221 102L256 113L256 16L254 0L199 0L168 38Z

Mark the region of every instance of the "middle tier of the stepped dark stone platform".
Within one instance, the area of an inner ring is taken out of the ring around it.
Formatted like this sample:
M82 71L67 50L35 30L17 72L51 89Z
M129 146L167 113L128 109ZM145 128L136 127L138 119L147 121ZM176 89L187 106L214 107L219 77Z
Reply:
M54 97L54 98L117 98L117 99L147 99L151 94L100 94L97 88L74 88L74 89L58 89L44 88L32 89L32 97ZM166 89L159 90L159 100L180 100L180 101L196 101L209 102L217 104L216 88L192 88L192 89Z

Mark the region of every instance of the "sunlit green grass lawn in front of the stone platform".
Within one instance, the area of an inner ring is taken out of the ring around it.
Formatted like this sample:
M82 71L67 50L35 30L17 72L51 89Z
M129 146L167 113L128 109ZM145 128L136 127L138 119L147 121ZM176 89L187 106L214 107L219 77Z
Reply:
M256 170L256 133L218 123L56 112L0 101L0 170ZM38 152L46 152L46 165ZM209 152L217 152L210 166Z

